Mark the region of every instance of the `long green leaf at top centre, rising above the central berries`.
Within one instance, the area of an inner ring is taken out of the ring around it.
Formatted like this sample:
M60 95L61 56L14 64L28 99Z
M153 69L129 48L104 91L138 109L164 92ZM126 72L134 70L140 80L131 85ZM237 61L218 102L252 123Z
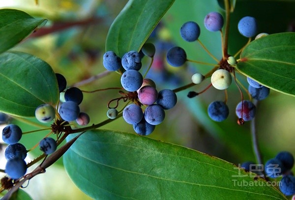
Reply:
M174 0L129 0L113 22L106 40L106 51L122 57L139 51Z

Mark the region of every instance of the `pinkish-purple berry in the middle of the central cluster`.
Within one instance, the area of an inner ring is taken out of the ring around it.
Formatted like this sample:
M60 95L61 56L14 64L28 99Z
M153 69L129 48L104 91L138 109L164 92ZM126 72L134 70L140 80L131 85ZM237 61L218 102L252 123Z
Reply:
M153 86L143 86L138 91L138 99L144 105L151 105L156 102L158 91Z

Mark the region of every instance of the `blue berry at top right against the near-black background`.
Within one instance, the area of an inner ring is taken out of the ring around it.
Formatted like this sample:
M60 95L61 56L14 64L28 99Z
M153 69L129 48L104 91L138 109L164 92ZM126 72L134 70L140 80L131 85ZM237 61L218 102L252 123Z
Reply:
M245 37L253 37L257 33L257 22L254 17L243 17L237 24L238 31Z

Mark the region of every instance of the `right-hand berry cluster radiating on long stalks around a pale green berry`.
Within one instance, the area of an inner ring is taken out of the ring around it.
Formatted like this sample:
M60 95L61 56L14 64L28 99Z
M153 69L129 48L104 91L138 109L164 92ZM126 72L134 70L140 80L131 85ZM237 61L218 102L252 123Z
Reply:
M218 12L210 12L207 14L207 16L204 19L204 25L206 29L209 31L221 31L222 33L222 27L224 25L223 16ZM249 16L243 17L238 22L237 29L245 37L251 38L255 36L257 33L256 19ZM180 35L187 42L193 42L193 41L200 42L199 40L200 34L201 34L200 26L193 21L184 23L180 28ZM266 35L267 33L261 33L257 35L255 39L266 36ZM204 46L202 43L201 45ZM208 87L213 86L219 90L227 89L232 84L232 80L233 80L232 77L236 79L235 65L237 61L235 57L227 55L227 52L224 53L224 55L225 56L218 62L218 64L215 65L216 70L214 70L213 72L209 72L205 76L203 74L196 73L192 76L192 82L194 84L200 84L206 78L211 77L210 85ZM210 56L213 57L216 61L218 61L214 56L212 55ZM172 47L167 52L167 61L172 66L178 67L183 65L186 61L192 61L192 60L187 59L186 52L184 49L176 46L176 47ZM219 66L219 67L216 67L216 66ZM243 124L244 121L252 120L255 116L256 107L251 102L251 98L256 100L263 100L269 94L269 88L260 85L259 83L257 83L256 81L250 78L247 78L247 80L249 82L247 93L251 95L250 100L244 100L243 94L241 93L242 101L240 101L236 106L236 115L238 117L237 122L240 125ZM188 97L192 98L199 94L200 93L191 91L188 93ZM227 103L227 97L225 98L224 101L214 101L210 103L207 108L207 113L209 117L212 120L217 122L221 122L225 120L229 116L229 108L226 103Z

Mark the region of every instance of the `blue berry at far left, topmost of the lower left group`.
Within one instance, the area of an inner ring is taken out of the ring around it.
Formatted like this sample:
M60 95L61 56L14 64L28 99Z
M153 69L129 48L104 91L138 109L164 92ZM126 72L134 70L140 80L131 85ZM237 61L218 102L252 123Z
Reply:
M7 144L15 144L21 140L22 134L22 129L18 125L8 124L2 130L2 140Z

